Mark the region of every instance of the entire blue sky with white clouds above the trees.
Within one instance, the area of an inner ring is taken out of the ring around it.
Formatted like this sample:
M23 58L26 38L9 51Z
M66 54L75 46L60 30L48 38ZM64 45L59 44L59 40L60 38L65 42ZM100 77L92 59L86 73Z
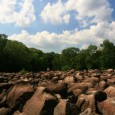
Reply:
M0 7L0 33L28 47L60 53L115 43L115 0L0 0Z

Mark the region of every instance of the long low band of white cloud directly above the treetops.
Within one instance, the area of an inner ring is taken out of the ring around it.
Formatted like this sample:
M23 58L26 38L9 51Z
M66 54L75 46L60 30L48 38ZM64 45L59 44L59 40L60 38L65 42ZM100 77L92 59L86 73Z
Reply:
M23 42L28 47L35 47L45 52L61 52L67 47L86 48L90 44L99 45L105 39L115 43L115 22L98 23L89 29L63 31L61 34L49 33L48 31L38 32L34 35L23 30L20 34L9 36L8 39Z

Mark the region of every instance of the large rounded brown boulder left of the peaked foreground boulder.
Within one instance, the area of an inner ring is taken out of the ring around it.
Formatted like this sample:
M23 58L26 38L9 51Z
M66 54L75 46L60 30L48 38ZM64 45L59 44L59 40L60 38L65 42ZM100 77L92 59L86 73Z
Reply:
M33 92L33 88L28 82L19 82L9 91L6 103L10 108L18 109L32 96Z

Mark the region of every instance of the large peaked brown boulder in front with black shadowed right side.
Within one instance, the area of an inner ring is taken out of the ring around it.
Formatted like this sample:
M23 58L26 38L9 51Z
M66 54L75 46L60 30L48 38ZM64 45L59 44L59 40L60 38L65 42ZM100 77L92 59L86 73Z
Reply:
M57 103L58 99L53 92L44 87L38 87L31 99L24 105L23 112L27 115L53 115Z

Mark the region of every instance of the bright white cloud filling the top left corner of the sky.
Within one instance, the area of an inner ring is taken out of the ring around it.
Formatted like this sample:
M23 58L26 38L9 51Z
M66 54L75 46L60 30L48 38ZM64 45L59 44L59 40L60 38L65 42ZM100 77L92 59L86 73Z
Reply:
M28 26L36 18L33 0L0 0L0 6L0 23Z

